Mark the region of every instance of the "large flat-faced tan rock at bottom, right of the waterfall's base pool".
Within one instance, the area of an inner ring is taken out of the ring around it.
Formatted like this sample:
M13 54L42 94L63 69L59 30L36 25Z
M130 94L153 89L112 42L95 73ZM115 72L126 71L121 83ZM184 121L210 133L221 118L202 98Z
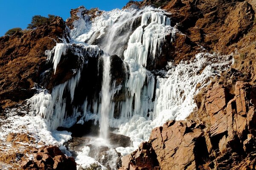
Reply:
M207 146L200 126L188 127L185 121L170 121L163 127L155 128L149 142L140 144L131 156L123 158L122 168L129 169L127 166L131 167L131 163L134 163L139 168L146 167L149 170L158 169L159 166L161 170L192 170L203 159L207 159Z

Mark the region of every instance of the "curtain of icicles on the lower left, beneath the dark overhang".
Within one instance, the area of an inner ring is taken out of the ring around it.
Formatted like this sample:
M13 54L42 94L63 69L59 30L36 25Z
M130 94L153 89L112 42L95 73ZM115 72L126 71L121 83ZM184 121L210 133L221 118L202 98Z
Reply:
M63 99L65 89L69 89L70 97L73 99L76 85L81 76L79 70L75 77L67 82L57 85L52 89L52 94L43 90L39 94L28 99L30 106L30 115L41 115L49 124L49 130L55 130L57 127L64 125L66 119L66 99ZM76 117L73 115L72 117ZM75 120L74 120L75 121ZM75 122L73 122L74 124ZM71 123L72 124L72 123Z

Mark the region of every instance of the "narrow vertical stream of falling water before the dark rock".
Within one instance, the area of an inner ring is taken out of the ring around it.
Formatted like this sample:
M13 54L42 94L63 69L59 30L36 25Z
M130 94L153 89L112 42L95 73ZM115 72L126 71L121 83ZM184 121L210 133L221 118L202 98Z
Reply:
M101 117L99 121L99 136L103 139L108 139L109 116L111 106L111 91L110 91L110 57L103 56L103 78L102 78L102 102L101 102Z

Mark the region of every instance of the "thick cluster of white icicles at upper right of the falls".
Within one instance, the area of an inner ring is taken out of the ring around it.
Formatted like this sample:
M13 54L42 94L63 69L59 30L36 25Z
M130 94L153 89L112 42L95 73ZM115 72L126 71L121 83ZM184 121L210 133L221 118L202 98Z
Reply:
M151 22L148 24L148 19ZM165 40L166 35L171 33L172 27L170 18L166 17L163 12L148 11L143 13L141 26L139 26L128 42L128 47L124 52L125 61L134 59L138 64L146 66L148 52L150 55L160 51L160 45ZM143 26L146 26L143 29Z

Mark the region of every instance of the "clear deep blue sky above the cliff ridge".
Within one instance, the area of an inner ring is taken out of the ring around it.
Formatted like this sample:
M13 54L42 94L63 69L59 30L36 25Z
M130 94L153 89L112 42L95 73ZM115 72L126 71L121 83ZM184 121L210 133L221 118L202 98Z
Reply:
M81 5L110 11L122 8L129 0L0 0L0 36L11 28L26 28L34 15L53 14L66 20L70 9Z

